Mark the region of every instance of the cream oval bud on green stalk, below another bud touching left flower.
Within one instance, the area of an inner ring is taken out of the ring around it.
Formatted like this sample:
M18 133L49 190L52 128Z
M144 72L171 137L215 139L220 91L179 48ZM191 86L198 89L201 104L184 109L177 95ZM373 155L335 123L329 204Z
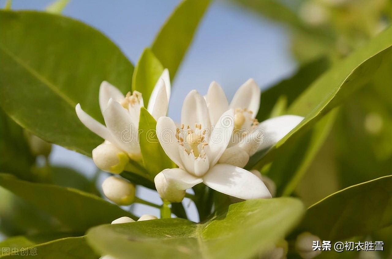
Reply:
M130 205L135 199L135 186L123 178L109 176L102 183L105 196L118 205Z

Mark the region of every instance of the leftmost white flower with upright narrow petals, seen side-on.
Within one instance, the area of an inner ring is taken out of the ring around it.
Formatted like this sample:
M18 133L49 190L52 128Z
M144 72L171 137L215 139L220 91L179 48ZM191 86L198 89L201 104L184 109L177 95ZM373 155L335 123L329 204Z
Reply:
M169 72L165 69L151 93L147 107L154 119L166 115L169 97L170 79ZM106 127L90 117L82 110L80 104L77 104L75 109L80 121L132 160L141 160L142 154L138 143L138 128L140 108L144 106L142 94L134 91L132 94L129 92L124 96L116 87L103 81L100 86L99 104ZM110 150L106 152L110 152ZM101 157L100 159L104 158ZM102 163L97 160L94 160L94 162L96 162L98 167ZM107 168L101 169L108 171Z

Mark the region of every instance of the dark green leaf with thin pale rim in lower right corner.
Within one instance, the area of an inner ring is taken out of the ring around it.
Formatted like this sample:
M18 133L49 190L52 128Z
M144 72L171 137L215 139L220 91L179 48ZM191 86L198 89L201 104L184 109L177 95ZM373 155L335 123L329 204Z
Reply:
M300 231L321 240L366 235L392 224L392 176L338 191L309 207Z

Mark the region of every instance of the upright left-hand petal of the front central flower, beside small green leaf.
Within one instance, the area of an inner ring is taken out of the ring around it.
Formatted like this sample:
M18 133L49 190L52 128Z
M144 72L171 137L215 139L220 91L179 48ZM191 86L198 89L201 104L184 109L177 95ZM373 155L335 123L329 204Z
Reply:
M176 138L177 127L174 121L169 117L160 117L156 122L156 135L166 155L179 167L184 168L180 157L182 147ZM182 147L183 148L183 147Z

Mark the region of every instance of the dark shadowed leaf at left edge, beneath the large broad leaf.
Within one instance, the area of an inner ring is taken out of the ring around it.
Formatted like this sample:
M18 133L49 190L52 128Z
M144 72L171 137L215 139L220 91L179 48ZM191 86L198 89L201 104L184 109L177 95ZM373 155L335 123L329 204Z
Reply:
M10 172L24 180L32 180L31 166L35 157L31 155L23 129L0 108L0 171Z

